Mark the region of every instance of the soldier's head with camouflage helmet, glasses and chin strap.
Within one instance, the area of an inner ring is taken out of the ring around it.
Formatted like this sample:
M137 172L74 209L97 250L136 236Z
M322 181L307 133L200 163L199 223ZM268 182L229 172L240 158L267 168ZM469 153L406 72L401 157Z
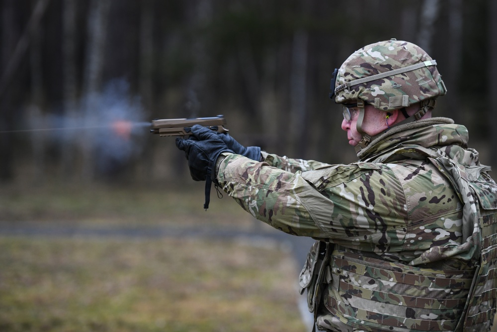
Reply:
M419 46L391 39L352 53L331 79L330 98L343 106L342 129L360 151L399 123L431 116L446 89L433 60Z

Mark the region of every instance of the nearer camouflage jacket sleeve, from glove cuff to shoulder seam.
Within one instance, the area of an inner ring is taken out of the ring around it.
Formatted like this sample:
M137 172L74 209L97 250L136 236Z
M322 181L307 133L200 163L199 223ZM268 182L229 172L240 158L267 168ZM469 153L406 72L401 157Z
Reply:
M240 155L224 157L218 164L217 177L222 189L254 218L284 232L348 242L362 241L389 229L395 232L395 228L406 225L404 218L395 215L397 210L407 215L402 200L377 198L376 203L370 202L375 190L381 192L370 187L373 182L380 183L377 179L370 181L371 176L379 176L374 165L373 169L327 165L292 173ZM393 191L398 191L397 196L404 195L398 183L389 183L385 174L382 177L392 195Z

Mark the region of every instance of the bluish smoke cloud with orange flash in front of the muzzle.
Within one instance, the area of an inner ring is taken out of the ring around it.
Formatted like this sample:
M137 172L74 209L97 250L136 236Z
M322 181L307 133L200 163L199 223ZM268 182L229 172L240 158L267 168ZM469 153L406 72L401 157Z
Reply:
M39 150L35 145L40 141L70 144L87 153L89 167L100 174L112 174L139 155L150 126L140 97L130 95L124 79L112 80L101 92L85 96L76 111L61 116L33 109L27 115L26 125L34 130L33 148Z

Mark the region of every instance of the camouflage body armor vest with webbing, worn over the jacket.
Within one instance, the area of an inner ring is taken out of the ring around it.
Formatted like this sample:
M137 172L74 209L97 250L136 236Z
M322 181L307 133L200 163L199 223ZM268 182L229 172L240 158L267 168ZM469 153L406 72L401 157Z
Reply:
M309 311L320 329L333 326L320 309L324 305L345 331L488 331L497 298L497 185L487 174L490 167L465 167L419 145L402 146L375 162L397 160L404 152L430 161L458 193L466 241L444 254L471 252L475 268L421 268L317 241L299 279L301 292L308 290Z

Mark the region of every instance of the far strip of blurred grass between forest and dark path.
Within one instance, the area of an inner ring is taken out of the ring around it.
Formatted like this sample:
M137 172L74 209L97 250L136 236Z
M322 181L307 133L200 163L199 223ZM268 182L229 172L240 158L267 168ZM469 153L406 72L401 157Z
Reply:
M82 225L214 225L245 227L249 216L229 197L203 209L204 183L137 187L51 183L0 186L0 221L64 221Z

